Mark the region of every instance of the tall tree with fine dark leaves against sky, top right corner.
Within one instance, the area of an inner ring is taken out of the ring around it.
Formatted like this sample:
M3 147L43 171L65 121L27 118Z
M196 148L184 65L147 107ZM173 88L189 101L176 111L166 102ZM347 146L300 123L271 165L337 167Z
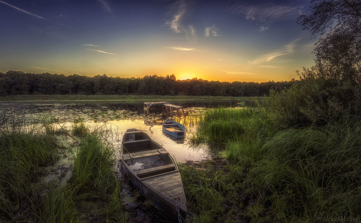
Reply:
M308 14L297 19L316 37L316 67L332 79L360 81L360 1L313 0Z

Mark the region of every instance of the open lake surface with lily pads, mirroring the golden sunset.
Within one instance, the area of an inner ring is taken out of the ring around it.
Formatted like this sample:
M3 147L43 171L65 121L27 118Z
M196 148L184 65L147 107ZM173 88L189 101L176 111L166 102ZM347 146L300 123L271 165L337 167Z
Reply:
M94 101L93 101L94 102ZM196 127L187 127L184 139L175 139L162 132L161 110L151 110L150 114L144 114L143 101L97 104L84 101L62 102L62 103L34 103L34 102L11 102L1 103L0 112L7 111L11 115L40 115L50 112L55 115L60 123L70 126L74 119L83 118L90 129L95 129L106 124L112 133L108 140L115 148L120 147L122 134L128 128L137 128L147 132L151 138L162 145L178 162L186 160L200 160L208 157L208 148L200 145L196 148L190 147L188 137L195 131ZM230 101L171 101L170 103L183 106L186 116L197 116L204 109L219 106L229 107L234 104ZM181 118L183 118L183 114ZM166 117L168 118L168 117ZM178 117L173 117L177 120Z

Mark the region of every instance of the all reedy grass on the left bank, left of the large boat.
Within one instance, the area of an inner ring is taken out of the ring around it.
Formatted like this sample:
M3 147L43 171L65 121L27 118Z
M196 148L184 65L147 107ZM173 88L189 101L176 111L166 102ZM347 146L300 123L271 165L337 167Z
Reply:
M0 115L0 222L87 222L93 210L81 204L94 200L98 219L127 222L112 169L114 149L102 139L102 127L84 134L68 183L44 183L43 167L64 153L55 135L71 136L69 131L79 132L79 126L68 131L46 112L40 117L13 114Z

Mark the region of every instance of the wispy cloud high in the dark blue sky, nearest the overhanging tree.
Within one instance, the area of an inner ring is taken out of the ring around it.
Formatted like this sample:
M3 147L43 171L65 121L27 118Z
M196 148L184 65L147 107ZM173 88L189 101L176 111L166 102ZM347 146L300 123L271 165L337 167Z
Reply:
M273 3L251 5L248 3L237 2L231 6L230 11L232 14L243 14L246 19L252 21L265 22L268 20L278 19L282 16L299 14L303 6L287 6L275 5Z

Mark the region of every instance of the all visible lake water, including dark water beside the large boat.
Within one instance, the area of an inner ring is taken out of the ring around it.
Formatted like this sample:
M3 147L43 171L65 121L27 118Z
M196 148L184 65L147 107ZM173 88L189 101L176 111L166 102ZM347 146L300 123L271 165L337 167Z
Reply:
M162 132L161 110L151 110L150 114L144 114L144 102L152 101L22 101L0 102L0 115L4 112L14 116L41 115L50 112L58 119L58 126L71 127L74 119L83 118L86 125L94 130L103 126L105 137L110 141L116 151L119 150L123 132L128 128L136 128L147 132L158 144L161 144L178 162L187 160L198 161L208 158L209 152L206 145L192 147L188 143L188 136L195 132L196 126L187 126L184 139L175 139ZM155 102L155 101L153 101ZM189 101L168 100L170 104L183 106L184 114L165 117L182 122L182 119L197 117L201 111L218 107L237 107L236 100L223 101ZM245 101L245 105L254 105L254 100ZM1 119L1 117L0 117ZM74 143L71 139L65 140L69 145ZM64 155L57 161L55 166L46 167L47 175L43 176L43 182L59 180L66 183L71 176L72 157ZM117 158L119 159L119 153ZM124 208L133 219L133 222L171 222L163 213L154 207L142 194L131 184L130 180L122 173L119 161L115 164L115 174L119 182L122 182L122 198ZM64 176L63 176L64 175ZM60 177L62 176L62 177ZM161 216L161 217L160 217Z

